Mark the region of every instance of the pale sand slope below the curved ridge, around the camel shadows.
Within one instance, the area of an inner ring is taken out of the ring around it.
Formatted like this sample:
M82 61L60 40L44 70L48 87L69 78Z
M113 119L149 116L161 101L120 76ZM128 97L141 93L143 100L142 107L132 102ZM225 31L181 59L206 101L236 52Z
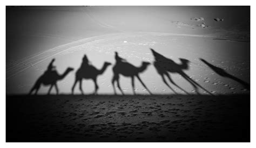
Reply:
M51 59L55 58L54 65L59 74L62 74L68 67L75 68L74 72L58 82L60 93L71 93L75 72L86 54L91 64L98 69L105 61L111 62L112 65L98 76L97 82L99 94L113 94L112 68L115 64L114 52L117 51L120 57L134 66L139 67L142 61L151 63L146 71L139 75L152 93L173 94L173 91L164 84L156 68L152 65L155 59L150 48L173 60L176 64L181 64L179 58L189 60L188 69L183 72L214 95L248 94L250 92L239 82L215 73L200 60L200 58L205 59L211 65L250 83L250 43L157 32L123 32L85 38L18 60L6 65L6 92L7 94L28 93L38 77L44 73ZM181 88L195 94L192 85L178 73L170 73L170 75ZM179 88L168 83L177 93L184 94ZM121 76L120 85L124 93L132 94L129 77ZM148 94L137 79L135 85L138 94ZM49 86L42 86L39 89L39 94L46 94L48 89ZM91 94L94 90L94 83L91 80L84 80L83 89L86 94ZM201 94L207 94L202 89L199 91ZM55 90L52 93L54 94ZM75 88L75 93L80 94L78 86Z

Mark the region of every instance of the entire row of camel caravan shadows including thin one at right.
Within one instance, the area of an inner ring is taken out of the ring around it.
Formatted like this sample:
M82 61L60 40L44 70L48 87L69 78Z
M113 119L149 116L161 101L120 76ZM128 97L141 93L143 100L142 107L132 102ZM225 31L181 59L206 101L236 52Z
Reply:
M168 59L164 57L164 55L161 55L160 53L154 51L152 48L150 48L150 50L153 53L153 57L154 57L153 66L156 68L157 73L161 76L161 79L166 84L166 86L169 87L176 95L178 93L170 86L170 84L168 83L169 81L171 84L173 84L180 90L184 91L187 95L190 95L190 93L188 93L185 89L181 88L176 82L174 82L170 76L170 73L177 73L181 75L181 77L183 77L188 83L192 85L192 87L194 88L194 91L196 91L198 95L200 95L199 88L204 90L206 93L213 95L210 91L202 87L199 83L192 80L191 77L184 72L185 70L188 70L190 68L188 65L190 63L189 60L180 58L179 60L181 61L181 64L177 64L173 60ZM117 52L115 52L114 59L116 60L116 63L112 68L113 77L111 80L114 95L117 95L115 84L117 84L117 88L120 90L122 95L124 95L124 92L120 86L120 75L131 77L132 91L134 95L136 95L134 91L134 87L135 87L134 79L136 77L139 80L139 82L142 83L142 85L146 88L147 92L150 95L152 95L151 91L147 88L147 86L139 76L140 73L143 73L144 71L146 71L147 67L150 65L150 62L142 61L142 65L139 67L136 67L130 64L129 62L127 62L125 59L119 57ZM228 74L227 72L225 72L223 69L219 67L211 65L209 62L207 62L204 59L200 59L200 60L203 61L208 67L210 67L215 73L219 74L220 76L228 77L234 81L241 83L243 86L245 86L245 88L250 89L250 84L246 83L245 81L242 81L237 77L231 74ZM53 66L54 61L55 59L52 59L52 61L48 65L47 70L43 73L43 75L41 75L38 78L38 80L36 81L32 89L30 90L29 95L32 94L33 91L35 91L35 95L36 95L39 88L42 85L50 86L48 95L50 94L53 86L56 88L56 92L58 94L59 90L57 86L57 81L64 79L64 77L74 69L69 67L66 69L66 71L63 74L60 75L57 73L55 66ZM91 64L87 56L84 55L82 59L82 64L80 65L80 67L78 68L75 74L75 82L73 83L73 86L71 88L72 94L74 93L76 84L79 83L79 90L81 91L82 95L84 95L84 91L82 88L83 86L82 82L84 79L93 80L93 82L95 83L95 91L93 94L97 94L99 89L99 86L97 84L97 77L99 75L102 75L106 71L107 67L109 67L110 65L111 65L110 62L104 62L102 68L97 69L95 66ZM166 77L167 77L167 80L169 80L168 82L166 81Z

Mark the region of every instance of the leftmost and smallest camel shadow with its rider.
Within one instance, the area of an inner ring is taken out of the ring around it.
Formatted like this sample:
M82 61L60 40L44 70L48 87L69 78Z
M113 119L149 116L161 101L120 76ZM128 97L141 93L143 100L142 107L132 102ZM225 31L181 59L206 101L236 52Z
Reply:
M66 71L63 74L58 74L56 71L56 67L53 66L53 62L55 61L55 59L52 59L50 64L48 65L47 70L44 72L43 75L41 75L36 83L34 84L34 86L32 87L32 89L30 90L29 94L31 95L33 93L33 91L35 90L35 95L37 94L39 88L41 87L41 85L43 84L44 86L49 86L50 85L50 89L48 91L48 95L51 92L51 89L53 86L55 86L56 89L56 93L59 93L59 89L57 86L57 81L60 81L62 79L64 79L64 77L66 75L68 75L71 71L73 71L73 68L69 67L66 69Z

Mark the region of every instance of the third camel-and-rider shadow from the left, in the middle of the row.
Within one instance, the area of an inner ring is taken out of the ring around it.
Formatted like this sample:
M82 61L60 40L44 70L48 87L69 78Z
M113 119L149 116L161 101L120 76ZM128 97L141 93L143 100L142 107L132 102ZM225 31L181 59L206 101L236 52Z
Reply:
M146 70L147 66L150 65L150 62L143 61L142 66L136 67L136 66L133 66L132 64L130 64L129 62L127 62L125 59L119 57L117 52L115 52L114 58L116 59L116 64L113 66L112 86L113 86L115 95L117 94L116 89L114 87L115 82L117 82L117 87L119 88L121 93L124 95L124 92L123 92L122 88L120 87L119 75L131 77L133 94L136 94L134 91L134 77L137 77L137 79L140 81L140 83L142 83L142 85L146 88L146 90L150 94L152 94L150 92L150 90L146 87L146 85L144 84L142 79L140 79L140 77L139 77L139 73L144 72Z

